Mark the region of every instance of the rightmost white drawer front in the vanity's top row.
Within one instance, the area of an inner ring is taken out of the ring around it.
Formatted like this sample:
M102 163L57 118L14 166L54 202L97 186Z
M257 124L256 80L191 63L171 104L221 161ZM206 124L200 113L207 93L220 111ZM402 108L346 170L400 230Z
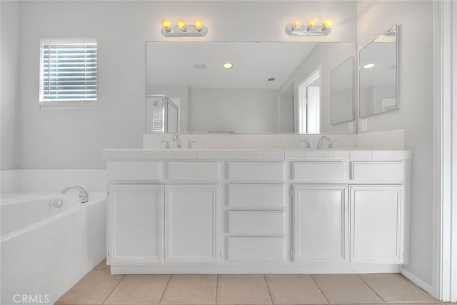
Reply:
M401 181L404 177L402 162L352 162L352 179L368 181Z

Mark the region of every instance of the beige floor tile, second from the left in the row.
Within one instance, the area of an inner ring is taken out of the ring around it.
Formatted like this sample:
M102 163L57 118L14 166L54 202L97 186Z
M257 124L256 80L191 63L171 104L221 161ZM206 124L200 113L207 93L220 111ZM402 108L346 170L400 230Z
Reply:
M104 304L159 304L169 275L128 274Z

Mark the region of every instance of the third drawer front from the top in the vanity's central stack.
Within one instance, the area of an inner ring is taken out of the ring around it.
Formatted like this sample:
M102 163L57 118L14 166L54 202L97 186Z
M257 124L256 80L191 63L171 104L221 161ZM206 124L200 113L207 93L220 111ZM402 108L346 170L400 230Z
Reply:
M283 211L228 211L229 234L285 234Z

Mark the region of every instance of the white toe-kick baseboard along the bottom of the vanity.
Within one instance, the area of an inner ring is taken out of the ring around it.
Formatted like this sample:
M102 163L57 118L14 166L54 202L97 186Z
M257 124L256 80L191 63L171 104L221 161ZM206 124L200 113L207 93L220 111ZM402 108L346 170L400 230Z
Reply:
M309 265L111 265L111 274L366 274L399 273L400 265L309 264Z

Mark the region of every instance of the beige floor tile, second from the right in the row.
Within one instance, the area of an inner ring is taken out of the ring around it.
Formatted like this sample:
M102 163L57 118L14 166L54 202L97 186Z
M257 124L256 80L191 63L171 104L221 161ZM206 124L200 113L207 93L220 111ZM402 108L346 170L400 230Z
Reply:
M356 274L318 274L314 281L331 304L383 304Z

